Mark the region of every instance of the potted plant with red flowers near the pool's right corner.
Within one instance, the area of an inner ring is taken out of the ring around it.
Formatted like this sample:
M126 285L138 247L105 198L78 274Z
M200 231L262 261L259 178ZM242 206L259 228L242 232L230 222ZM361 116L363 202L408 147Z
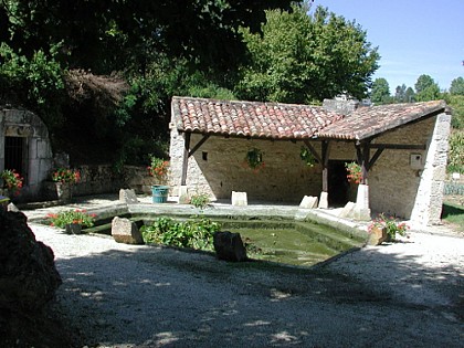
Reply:
M409 230L409 225L404 222L397 221L393 217L386 217L383 213L369 224L368 233L369 241L371 245L378 245L382 242L391 242L397 238L397 233L400 235L405 235L405 232Z

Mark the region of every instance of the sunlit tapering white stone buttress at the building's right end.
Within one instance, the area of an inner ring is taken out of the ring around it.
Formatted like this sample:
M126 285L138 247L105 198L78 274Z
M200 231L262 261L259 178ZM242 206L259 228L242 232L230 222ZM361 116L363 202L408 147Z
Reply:
M450 114L443 113L436 116L435 127L426 151L424 170L420 172L421 179L411 213L411 221L420 225L440 223L450 127Z

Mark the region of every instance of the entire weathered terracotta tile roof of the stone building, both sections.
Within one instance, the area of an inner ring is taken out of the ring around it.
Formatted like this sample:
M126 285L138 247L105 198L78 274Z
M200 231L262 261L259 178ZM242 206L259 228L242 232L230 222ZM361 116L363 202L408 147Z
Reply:
M344 116L321 106L173 97L180 131L221 136L365 139L444 110L441 101L361 107Z

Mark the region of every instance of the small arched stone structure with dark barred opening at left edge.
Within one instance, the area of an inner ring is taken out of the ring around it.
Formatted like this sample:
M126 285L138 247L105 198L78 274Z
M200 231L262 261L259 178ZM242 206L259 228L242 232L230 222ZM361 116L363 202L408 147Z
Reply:
M0 106L0 171L14 169L24 178L22 200L40 196L52 164L49 130L39 116Z

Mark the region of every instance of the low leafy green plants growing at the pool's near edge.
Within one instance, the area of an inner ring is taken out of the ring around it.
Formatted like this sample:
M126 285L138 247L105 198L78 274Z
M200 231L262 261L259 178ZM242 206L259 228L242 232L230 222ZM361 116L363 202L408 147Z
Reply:
M170 218L159 218L151 225L141 226L146 243L157 243L198 250L213 249L213 233L221 225L207 218L177 222Z

